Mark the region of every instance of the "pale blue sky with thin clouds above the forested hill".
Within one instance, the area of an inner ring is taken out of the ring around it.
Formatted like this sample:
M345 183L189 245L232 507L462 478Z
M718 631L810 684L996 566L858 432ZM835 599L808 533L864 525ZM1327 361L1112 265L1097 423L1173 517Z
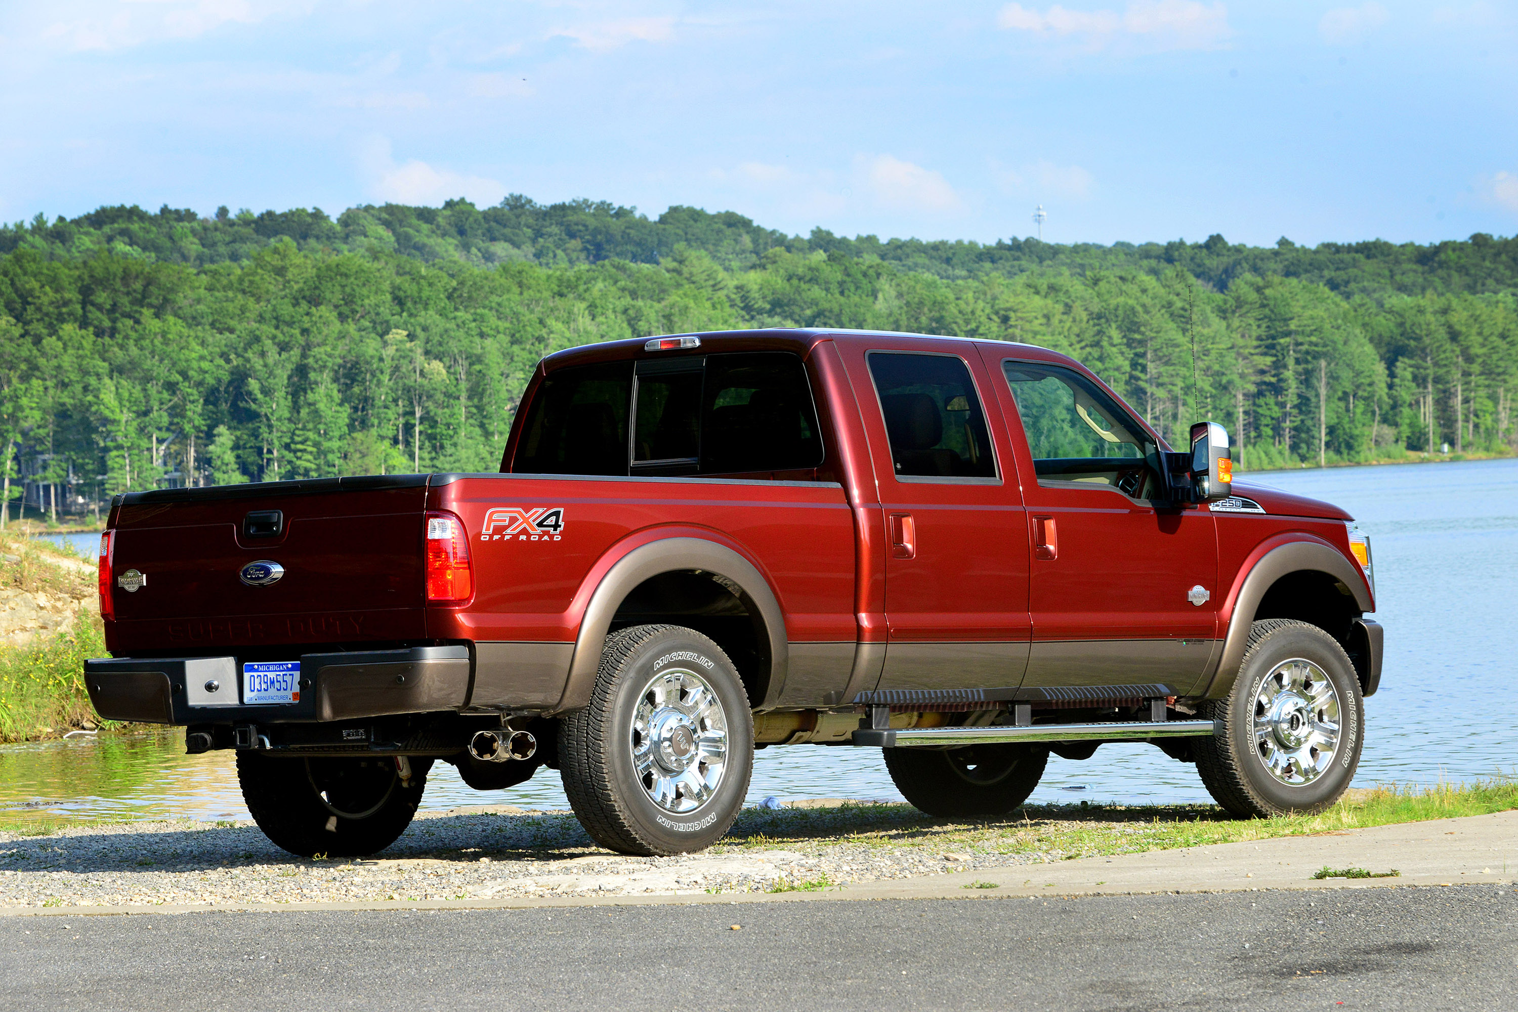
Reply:
M788 232L1518 232L1518 0L0 5L0 220L592 197Z

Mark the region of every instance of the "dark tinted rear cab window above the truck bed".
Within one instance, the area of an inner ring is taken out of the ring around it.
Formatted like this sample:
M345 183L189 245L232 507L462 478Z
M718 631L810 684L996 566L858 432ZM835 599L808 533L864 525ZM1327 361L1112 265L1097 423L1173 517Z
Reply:
M823 457L802 360L726 352L554 370L528 405L510 469L814 479Z

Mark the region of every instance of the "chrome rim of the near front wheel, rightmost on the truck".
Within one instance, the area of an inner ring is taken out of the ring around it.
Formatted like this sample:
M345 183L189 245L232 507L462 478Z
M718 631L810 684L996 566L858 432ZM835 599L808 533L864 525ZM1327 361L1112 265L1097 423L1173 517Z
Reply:
M1264 769L1290 786L1318 780L1339 751L1339 693L1312 662L1281 662L1254 695L1254 745Z

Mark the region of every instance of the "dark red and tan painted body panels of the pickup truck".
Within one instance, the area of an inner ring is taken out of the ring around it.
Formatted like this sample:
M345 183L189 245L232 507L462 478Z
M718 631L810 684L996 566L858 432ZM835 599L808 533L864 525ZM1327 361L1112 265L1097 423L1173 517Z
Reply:
M1219 643L1252 618L1236 614L1236 604L1271 546L1312 542L1353 563L1342 511L1242 482L1236 495L1258 499L1266 514L1040 486L1002 361L1061 364L1099 382L1057 352L844 331L701 338L698 352L672 354L788 350L805 361L821 466L744 478L417 475L132 493L111 514L115 570L135 567L150 581L137 595L114 593L111 649L143 657L469 643L490 675L474 680L471 704L553 709L607 574L647 545L695 539L744 560L777 602L791 649L771 706L836 706L876 687L1172 681L1216 693ZM896 478L865 358L893 350L965 361L987 416L994 481ZM653 354L642 341L560 352L537 370L524 405L546 372ZM238 523L254 508L284 510L285 533L244 539ZM460 605L424 601L427 510L454 513L469 533L474 596ZM563 511L560 530L534 540L519 525L505 536L502 511L531 519L545 510ZM914 519L912 558L893 552L893 513ZM1057 558L1034 557L1037 516L1058 517ZM241 566L260 558L285 567L278 584L238 581ZM1208 592L1201 607L1186 598L1193 586ZM1360 611L1374 607L1366 586L1354 596Z

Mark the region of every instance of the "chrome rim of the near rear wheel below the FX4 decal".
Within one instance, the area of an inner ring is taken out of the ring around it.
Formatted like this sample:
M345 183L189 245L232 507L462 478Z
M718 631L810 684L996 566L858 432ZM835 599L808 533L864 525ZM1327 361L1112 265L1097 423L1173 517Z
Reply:
M723 702L694 671L666 668L639 693L628 746L653 803L665 812L694 812L727 769Z

